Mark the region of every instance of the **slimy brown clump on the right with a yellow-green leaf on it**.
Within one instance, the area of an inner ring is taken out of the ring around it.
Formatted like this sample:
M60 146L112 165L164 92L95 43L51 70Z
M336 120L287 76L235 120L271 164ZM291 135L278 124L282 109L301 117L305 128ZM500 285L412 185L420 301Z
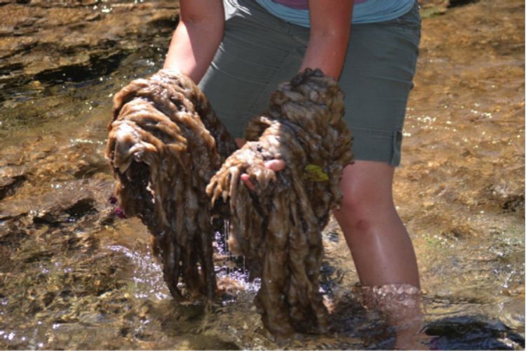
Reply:
M210 180L212 201L229 201L232 251L261 277L256 304L272 333L317 331L328 312L319 290L321 230L341 199L339 180L352 161L344 95L319 69L306 69L271 95L269 111L250 121L249 140ZM275 173L264 161L283 159ZM248 173L255 191L240 178Z

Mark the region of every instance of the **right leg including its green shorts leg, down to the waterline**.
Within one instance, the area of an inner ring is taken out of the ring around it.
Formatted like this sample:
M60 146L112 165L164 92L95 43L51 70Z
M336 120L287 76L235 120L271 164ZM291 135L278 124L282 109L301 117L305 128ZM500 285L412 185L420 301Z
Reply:
M419 39L416 3L396 20L351 29L340 83L357 161L344 170L344 198L335 217L364 286L405 283L419 288L412 243L392 197Z

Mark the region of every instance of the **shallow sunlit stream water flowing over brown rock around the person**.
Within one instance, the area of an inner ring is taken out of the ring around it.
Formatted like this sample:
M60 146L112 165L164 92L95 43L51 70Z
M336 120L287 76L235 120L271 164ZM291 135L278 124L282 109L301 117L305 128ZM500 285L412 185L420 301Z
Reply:
M414 345L523 349L524 1L457 3L424 1L394 185L422 276ZM217 257L217 305L177 304L146 228L115 212L103 157L112 95L161 67L177 6L4 0L0 13L0 348L395 345L361 303L335 223L322 270L333 331L278 341L234 262Z

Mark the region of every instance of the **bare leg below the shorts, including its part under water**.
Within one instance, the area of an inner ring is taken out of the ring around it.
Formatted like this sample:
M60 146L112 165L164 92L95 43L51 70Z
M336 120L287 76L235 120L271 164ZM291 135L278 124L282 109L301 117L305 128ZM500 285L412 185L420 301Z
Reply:
M384 162L347 166L340 183L342 207L334 214L365 286L365 305L383 312L395 327L397 349L421 349L415 339L422 327L417 258L393 204L393 173Z

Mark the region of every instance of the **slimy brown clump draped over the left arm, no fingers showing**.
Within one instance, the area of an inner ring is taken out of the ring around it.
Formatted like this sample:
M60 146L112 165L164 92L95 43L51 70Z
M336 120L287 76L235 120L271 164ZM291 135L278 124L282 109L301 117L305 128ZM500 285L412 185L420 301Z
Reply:
M154 236L175 298L213 298L211 208L205 186L236 150L234 139L191 79L161 70L114 98L106 157L119 203ZM187 293L177 285L184 282Z

